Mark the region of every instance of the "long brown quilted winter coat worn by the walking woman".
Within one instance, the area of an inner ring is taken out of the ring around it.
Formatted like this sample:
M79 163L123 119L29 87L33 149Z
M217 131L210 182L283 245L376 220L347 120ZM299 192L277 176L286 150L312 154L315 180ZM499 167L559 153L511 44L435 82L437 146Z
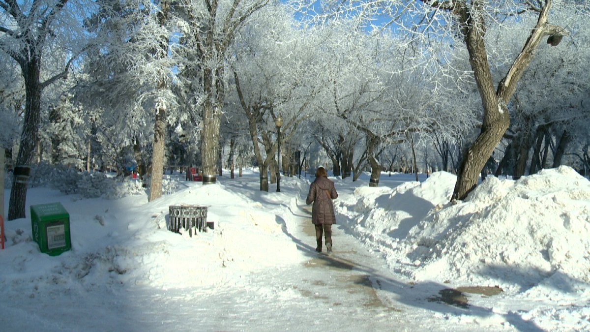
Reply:
M332 200L338 197L334 183L327 177L317 177L309 186L306 204L312 204L313 224L335 224L334 204Z

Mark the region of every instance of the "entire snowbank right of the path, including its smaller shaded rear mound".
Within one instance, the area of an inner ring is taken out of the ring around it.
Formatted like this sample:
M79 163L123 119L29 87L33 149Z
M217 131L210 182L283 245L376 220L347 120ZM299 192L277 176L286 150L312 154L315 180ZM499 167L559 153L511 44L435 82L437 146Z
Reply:
M338 211L395 271L417 281L567 292L590 281L590 182L575 170L489 177L450 204L455 180L438 172L421 184L359 188Z

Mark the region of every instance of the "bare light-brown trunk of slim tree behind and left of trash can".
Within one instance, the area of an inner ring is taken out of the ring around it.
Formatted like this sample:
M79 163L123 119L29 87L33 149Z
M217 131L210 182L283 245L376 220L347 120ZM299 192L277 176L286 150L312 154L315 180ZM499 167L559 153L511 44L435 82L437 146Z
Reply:
M156 123L153 129L152 178L150 180L148 201L162 197L162 178L164 175L164 148L166 139L166 108L156 109Z

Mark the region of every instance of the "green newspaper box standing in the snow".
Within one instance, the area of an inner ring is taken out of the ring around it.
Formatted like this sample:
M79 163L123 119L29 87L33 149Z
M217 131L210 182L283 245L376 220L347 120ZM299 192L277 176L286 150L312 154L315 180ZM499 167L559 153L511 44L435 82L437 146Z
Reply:
M41 252L57 256L71 249L70 214L61 203L31 205L31 227Z

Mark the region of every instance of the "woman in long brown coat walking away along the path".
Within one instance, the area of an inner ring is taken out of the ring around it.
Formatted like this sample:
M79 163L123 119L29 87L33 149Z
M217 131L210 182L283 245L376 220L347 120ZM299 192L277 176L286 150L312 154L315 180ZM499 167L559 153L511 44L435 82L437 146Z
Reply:
M332 253L332 224L336 223L332 200L338 197L334 183L328 179L326 168L318 167L316 180L309 186L305 203L312 204L312 223L316 226L317 252L322 252L322 233L326 237L328 255Z

